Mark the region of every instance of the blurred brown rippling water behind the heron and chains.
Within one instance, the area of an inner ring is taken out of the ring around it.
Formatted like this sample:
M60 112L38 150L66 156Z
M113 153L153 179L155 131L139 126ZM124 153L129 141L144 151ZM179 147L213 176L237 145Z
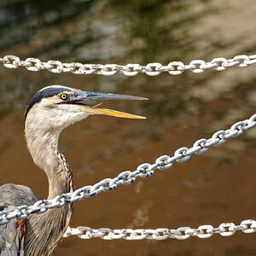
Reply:
M21 60L139 63L256 54L253 0L1 0L0 56ZM112 102L107 108L145 120L92 116L63 131L61 152L76 188L172 155L255 113L252 67L179 76L33 73L0 67L0 184L20 183L47 197L44 172L26 150L23 116L33 94L49 84L146 96L148 102ZM138 178L111 193L75 203L71 227L196 228L255 218L256 130L166 172ZM186 241L63 239L54 255L256 255L256 233Z

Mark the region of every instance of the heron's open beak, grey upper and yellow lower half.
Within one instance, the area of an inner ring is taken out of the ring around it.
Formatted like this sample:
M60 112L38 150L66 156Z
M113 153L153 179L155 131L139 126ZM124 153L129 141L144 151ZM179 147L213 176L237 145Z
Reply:
M124 113L119 112L116 110L108 109L108 108L99 108L101 104L96 106L89 106L86 104L81 103L81 101L87 100L102 100L102 101L111 101L111 100L129 100L129 101L143 101L148 100L148 98L139 97L139 96L129 96L129 95L119 95L119 94L112 94L112 93L101 93L101 92L90 92L90 91L79 91L76 95L74 102L79 102L80 110L86 113L91 114L104 114L110 115L119 118L125 119L146 119L143 116L131 114L131 113Z

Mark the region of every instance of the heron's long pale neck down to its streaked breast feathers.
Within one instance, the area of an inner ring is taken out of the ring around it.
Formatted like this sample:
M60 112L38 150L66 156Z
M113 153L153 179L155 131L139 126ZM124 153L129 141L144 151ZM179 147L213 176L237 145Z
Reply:
M73 173L63 154L58 151L59 133L26 127L26 143L34 163L44 170L49 180L49 196L73 191ZM69 224L73 205L32 214L26 219L26 255L44 255L53 251Z

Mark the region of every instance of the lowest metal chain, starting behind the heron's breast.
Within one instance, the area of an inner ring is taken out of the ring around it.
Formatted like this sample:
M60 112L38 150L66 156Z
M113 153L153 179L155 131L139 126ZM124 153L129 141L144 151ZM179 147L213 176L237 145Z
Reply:
M199 238L209 238L213 234L219 234L221 236L233 236L237 230L241 230L246 234L250 234L256 231L256 221L253 219L243 220L241 224L236 225L233 223L223 223L218 228L213 228L212 225L201 225L197 229L191 229L189 227L181 227L177 230L170 230L166 228L160 228L156 230L144 230L144 229L98 229L94 230L89 227L78 227L76 229L68 227L63 237L79 236L82 239L91 239L100 237L104 240L113 239L125 239L125 240L165 240L167 238L175 238L178 240L188 239L191 236L197 236Z

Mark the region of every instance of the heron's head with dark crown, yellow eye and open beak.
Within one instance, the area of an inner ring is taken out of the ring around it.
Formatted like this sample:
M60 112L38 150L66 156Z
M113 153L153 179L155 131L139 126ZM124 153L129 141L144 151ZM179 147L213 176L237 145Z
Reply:
M90 106L91 100L148 100L139 96L82 91L61 85L51 85L39 90L29 103L25 113L25 125L44 126L62 131L68 125L87 118L90 114L104 114L119 118L145 119L130 113ZM28 127L26 127L28 128Z

